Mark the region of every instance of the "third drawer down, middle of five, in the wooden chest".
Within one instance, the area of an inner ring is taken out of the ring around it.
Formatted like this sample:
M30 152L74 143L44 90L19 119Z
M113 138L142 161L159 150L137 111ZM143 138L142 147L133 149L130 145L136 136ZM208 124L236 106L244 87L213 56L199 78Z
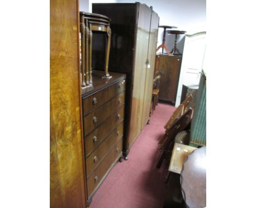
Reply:
M92 131L88 136L85 136L85 154L86 157L91 153L92 150L106 138L107 134L112 131L117 124L119 124L123 119L117 121L117 115L120 114L124 118L124 107L120 108L117 113L110 115L100 126ZM123 124L123 123L122 123Z

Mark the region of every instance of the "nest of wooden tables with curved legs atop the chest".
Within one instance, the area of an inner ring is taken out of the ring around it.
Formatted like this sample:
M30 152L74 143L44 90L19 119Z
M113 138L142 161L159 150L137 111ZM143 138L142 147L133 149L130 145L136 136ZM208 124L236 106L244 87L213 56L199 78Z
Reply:
M106 34L106 57L104 58L105 74L102 78L111 78L108 74L108 60L111 40L110 19L104 15L85 13L80 11L80 33L82 49L82 86L92 83L92 34L100 32Z

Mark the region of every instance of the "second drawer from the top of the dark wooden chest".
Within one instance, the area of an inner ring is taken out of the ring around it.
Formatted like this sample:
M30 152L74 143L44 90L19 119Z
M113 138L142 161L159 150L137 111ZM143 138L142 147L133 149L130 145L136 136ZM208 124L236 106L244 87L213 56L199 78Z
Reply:
M120 94L120 96L118 95L114 97L114 99L108 101L106 104L91 112L89 115L86 115L86 117L84 118L85 135L89 134L92 130L96 129L96 127L98 127L110 115L115 115L116 119L114 120L116 122L124 119L123 111L121 110L122 113L120 113L119 111L117 112L118 100L120 99L120 97L123 96L124 94ZM120 109L124 109L124 106L120 107Z

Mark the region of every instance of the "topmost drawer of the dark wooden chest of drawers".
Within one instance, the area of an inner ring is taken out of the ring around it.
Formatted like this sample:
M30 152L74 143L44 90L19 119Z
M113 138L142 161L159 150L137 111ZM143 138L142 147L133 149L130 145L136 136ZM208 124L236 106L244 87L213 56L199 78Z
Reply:
M117 82L110 87L98 91L97 93L90 95L83 99L84 112L86 115L100 107L103 103L114 97L115 95L120 94L125 90L125 79L123 81Z

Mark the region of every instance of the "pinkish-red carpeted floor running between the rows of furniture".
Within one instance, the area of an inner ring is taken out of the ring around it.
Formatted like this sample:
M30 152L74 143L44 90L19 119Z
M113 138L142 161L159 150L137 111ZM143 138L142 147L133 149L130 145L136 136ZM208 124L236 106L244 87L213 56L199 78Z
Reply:
M174 107L159 103L132 145L129 160L118 162L98 188L90 208L160 208L165 199L165 168L156 169L158 142ZM164 163L163 163L164 164ZM167 164L164 164L165 166Z

